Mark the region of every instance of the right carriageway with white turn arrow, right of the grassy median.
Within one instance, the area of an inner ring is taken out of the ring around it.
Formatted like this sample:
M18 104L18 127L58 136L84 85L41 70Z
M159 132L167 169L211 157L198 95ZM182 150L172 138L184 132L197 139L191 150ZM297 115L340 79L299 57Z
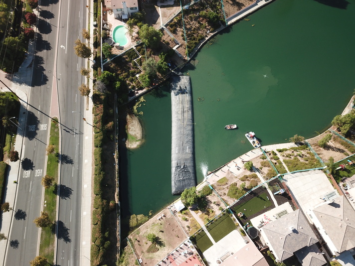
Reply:
M85 82L80 74L85 61L74 53L74 41L86 28L86 4L82 1L62 0L58 39L58 96L62 124L62 163L58 216L56 264L79 265L81 232L81 196L83 168L84 97L78 87ZM74 113L73 113L74 112ZM87 126L87 125L85 125Z

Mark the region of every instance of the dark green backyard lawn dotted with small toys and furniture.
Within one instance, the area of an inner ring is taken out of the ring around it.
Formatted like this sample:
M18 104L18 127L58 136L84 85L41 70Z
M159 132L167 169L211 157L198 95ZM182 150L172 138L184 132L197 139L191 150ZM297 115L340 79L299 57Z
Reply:
M252 216L255 213L260 212L261 210L265 209L264 206L267 208L272 205L271 200L268 200L268 193L264 192L261 193L242 205L234 205L231 207L232 211L235 213L243 212L246 216ZM246 209L246 211L244 211Z

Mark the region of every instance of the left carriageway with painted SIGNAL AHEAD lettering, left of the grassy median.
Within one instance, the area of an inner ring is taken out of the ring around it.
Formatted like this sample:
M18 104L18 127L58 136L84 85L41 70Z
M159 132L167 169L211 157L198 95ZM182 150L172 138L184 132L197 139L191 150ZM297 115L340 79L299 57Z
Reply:
M33 61L32 88L27 109L26 125L23 129L24 150L17 188L15 219L10 233L5 265L27 266L37 255L39 229L33 220L42 210L43 187L41 178L45 174L45 156L50 126L50 99L53 81L56 43L57 3L42 0L38 17L36 53ZM15 184L13 184L15 185Z

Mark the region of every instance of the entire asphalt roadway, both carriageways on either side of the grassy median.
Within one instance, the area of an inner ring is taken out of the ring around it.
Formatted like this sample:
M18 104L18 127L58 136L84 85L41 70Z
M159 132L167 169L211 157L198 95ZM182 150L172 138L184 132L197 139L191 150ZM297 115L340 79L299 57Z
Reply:
M39 229L33 220L40 215L43 204L40 181L46 170L45 150L52 114L57 114L61 123L56 264L79 265L84 102L77 88L84 82L80 75L84 60L75 55L73 47L75 39L82 39L80 32L86 25L86 3L40 1L16 214L9 238L14 245L7 248L6 266L27 266L38 255ZM57 89L56 99L52 92Z

